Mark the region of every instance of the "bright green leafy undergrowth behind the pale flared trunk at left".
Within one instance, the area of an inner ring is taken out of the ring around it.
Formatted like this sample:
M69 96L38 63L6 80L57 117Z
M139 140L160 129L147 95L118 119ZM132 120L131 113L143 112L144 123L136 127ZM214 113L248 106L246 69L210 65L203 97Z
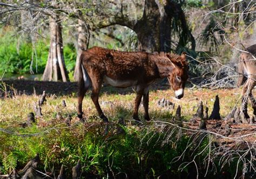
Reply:
M32 70L34 73L42 74L48 59L49 41L38 39L35 49L31 42L21 37L15 38L14 31L2 29L0 32L0 74L28 74L33 54ZM36 52L36 53L35 53ZM75 69L76 49L73 44L64 46L64 59L66 67L71 73Z

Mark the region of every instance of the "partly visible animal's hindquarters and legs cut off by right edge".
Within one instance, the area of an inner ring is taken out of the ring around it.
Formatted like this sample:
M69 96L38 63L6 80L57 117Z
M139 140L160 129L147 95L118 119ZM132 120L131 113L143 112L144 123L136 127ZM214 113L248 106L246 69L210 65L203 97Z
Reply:
M240 87L244 78L247 77L244 87L242 88L242 112L245 118L250 118L247 113L248 99L253 108L253 114L256 115L256 102L252 95L252 90L256 85L256 44L246 48L246 52L242 52L238 62L238 77L237 86Z

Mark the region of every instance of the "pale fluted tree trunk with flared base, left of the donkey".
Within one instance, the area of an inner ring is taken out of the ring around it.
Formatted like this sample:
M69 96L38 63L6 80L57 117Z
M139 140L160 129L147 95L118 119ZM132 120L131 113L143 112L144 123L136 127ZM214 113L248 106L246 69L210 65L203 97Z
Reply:
M62 26L59 18L50 17L51 44L43 81L69 81L63 56Z

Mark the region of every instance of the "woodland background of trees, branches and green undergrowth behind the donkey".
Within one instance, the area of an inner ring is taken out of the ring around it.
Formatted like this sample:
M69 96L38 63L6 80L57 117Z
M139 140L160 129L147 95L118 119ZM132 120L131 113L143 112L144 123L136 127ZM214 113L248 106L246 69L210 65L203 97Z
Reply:
M80 53L102 46L187 52L192 82L210 77L201 85L232 87L239 49L256 40L250 0L3 1L0 7L2 78L76 81Z

